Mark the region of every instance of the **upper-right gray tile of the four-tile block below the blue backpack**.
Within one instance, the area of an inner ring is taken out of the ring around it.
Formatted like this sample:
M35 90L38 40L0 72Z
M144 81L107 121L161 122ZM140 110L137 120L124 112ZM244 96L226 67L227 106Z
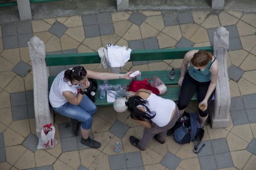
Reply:
M222 154L224 152L229 152L229 146L228 142L226 142L226 138L214 139L210 141L210 143L212 143L214 154Z

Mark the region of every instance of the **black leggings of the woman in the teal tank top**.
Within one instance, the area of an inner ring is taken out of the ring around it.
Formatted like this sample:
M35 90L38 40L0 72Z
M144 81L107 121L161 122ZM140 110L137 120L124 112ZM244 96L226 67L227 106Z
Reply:
M204 100L205 95L207 94L207 90L209 87L209 82L198 82L197 80L193 79L189 74L188 71L185 73L183 82L181 84L180 88L180 95L179 95L179 101L177 103L177 107L179 110L183 110L188 106L189 101L192 99L193 95L197 91L197 101L200 103ZM213 94L212 94L213 95ZM210 101L212 101L212 95L210 95L208 99L208 105L210 104ZM205 117L208 115L208 107L203 112L199 109L199 115L201 117Z

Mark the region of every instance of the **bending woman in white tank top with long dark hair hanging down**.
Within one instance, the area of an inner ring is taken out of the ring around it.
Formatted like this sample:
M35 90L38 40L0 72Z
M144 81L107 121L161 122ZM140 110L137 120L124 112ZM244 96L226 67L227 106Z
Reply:
M174 101L164 99L146 89L140 89L136 93L131 92L125 105L130 111L131 118L145 126L141 140L130 136L131 145L140 150L145 150L153 137L163 144L167 130L171 129L179 118L179 109ZM122 106L116 107L121 108Z

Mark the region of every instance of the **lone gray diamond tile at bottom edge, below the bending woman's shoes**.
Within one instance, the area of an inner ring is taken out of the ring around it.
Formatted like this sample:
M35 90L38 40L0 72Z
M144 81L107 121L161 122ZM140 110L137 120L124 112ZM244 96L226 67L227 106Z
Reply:
M167 154L164 155L164 158L162 159L160 164L172 170L172 169L176 169L177 165L179 165L180 162L181 162L181 159L179 157L175 156L171 152L167 152Z

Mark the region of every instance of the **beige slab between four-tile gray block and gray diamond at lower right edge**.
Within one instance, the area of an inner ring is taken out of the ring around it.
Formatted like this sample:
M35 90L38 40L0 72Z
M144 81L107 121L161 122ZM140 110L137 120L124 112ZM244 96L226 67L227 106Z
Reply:
M248 142L243 141L243 139L237 137L233 133L229 133L228 137L226 137L226 141L228 142L230 151L239 151L245 150L248 146Z

